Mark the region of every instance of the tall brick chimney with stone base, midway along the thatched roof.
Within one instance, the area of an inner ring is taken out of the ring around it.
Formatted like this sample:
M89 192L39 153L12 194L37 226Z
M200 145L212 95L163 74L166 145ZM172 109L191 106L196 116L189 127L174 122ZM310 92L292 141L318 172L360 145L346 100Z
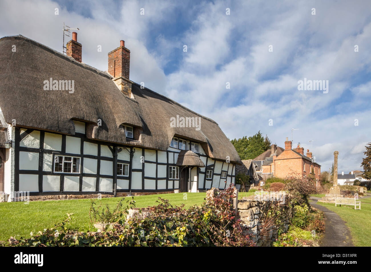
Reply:
M120 41L120 46L108 53L108 73L114 77L121 92L132 97L132 81L129 80L130 71L130 50L125 47L125 42Z

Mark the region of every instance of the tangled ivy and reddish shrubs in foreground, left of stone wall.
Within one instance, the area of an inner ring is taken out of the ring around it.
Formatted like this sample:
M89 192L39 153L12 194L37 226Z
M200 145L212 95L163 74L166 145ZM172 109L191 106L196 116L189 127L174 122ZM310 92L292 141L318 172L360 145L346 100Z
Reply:
M253 242L235 217L232 201L233 187L198 207L184 209L158 198L150 207L151 214L141 219L127 219L128 209L135 206L134 198L123 209L121 218L106 225L103 232L68 230L70 215L55 228L46 229L31 238L10 239L3 246L250 246ZM120 206L118 204L118 206ZM106 218L106 217L104 217ZM111 220L111 218L109 219Z

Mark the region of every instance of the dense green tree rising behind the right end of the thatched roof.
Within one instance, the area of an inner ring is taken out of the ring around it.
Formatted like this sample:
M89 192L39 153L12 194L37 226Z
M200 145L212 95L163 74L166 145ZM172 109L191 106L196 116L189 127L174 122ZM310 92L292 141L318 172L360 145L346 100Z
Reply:
M270 148L271 142L258 131L255 135L231 140L241 159L253 159Z

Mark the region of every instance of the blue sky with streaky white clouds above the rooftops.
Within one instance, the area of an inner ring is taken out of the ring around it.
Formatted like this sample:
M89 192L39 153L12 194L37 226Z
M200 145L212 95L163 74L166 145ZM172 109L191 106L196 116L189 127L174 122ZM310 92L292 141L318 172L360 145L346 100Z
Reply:
M316 140L322 171L335 150L339 172L361 169L371 141L370 1L0 2L1 37L61 51L63 22L80 29L83 62L107 70L107 53L125 40L131 80L212 118L231 139L260 130L284 147L297 128L293 146ZM328 93L299 91L303 78L328 80Z

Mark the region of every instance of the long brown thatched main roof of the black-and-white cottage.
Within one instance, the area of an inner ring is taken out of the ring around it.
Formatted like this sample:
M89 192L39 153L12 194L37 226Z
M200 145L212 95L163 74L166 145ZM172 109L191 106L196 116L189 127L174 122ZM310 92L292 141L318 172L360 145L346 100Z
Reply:
M12 46L16 52L12 52ZM43 81L74 80L75 92L44 91ZM211 158L241 163L219 125L140 85L132 85L135 99L121 93L104 71L79 63L29 38L0 39L0 107L6 122L63 134L75 134L72 120L89 125L89 138L165 151L174 135L200 142ZM160 90L161 91L161 90ZM170 127L170 118L201 117L201 129ZM102 126L97 126L98 119ZM127 141L126 123L142 130L139 141Z

